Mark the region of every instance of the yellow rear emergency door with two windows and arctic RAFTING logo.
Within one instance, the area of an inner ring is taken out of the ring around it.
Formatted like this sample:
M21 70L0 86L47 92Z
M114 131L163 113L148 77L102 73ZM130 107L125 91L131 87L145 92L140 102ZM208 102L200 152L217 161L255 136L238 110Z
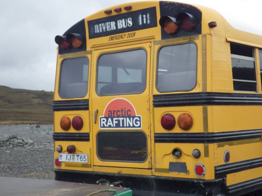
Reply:
M150 49L144 43L94 51L94 171L151 168Z

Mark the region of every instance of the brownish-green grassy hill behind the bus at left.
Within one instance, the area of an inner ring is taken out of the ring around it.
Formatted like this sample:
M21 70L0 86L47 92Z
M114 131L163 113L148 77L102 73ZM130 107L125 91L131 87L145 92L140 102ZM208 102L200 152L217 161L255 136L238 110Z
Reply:
M0 125L53 124L53 94L0 86Z

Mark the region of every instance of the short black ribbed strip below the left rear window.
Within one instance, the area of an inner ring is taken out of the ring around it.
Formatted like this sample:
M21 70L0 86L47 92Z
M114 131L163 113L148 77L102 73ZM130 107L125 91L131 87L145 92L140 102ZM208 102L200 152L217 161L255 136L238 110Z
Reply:
M89 110L89 99L54 101L52 107L53 111Z

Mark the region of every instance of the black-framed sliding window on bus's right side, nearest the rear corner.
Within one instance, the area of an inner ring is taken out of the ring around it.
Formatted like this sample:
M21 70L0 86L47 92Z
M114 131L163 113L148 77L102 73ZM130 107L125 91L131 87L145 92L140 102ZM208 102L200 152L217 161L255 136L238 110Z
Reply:
M230 44L234 91L257 91L254 49Z

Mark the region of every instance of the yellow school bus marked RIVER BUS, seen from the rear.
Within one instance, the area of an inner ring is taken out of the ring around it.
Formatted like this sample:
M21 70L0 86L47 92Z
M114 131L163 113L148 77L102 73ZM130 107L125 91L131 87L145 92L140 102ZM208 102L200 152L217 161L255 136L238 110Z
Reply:
M56 180L134 195L262 189L262 36L204 6L139 1L55 42Z

